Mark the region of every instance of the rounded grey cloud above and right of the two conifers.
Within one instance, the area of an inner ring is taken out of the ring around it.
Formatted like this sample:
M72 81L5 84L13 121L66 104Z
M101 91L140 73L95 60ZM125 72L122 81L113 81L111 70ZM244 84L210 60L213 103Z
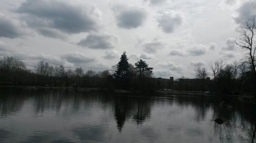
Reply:
M182 24L182 16L174 11L164 11L158 18L158 26L165 33L173 33Z

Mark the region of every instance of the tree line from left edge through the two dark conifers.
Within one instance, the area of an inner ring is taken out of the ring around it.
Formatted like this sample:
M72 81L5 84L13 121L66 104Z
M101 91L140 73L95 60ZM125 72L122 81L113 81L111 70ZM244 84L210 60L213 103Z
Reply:
M152 77L153 68L140 60L135 65L128 63L126 52L123 52L120 62L112 70L84 71L81 67L74 70L62 65L51 66L47 62L39 61L34 71L29 70L25 63L6 56L0 58L0 84L25 85L47 87L87 87L108 89L139 89L135 87L137 81L145 81ZM136 81L135 81L136 80ZM133 85L132 85L133 84Z

